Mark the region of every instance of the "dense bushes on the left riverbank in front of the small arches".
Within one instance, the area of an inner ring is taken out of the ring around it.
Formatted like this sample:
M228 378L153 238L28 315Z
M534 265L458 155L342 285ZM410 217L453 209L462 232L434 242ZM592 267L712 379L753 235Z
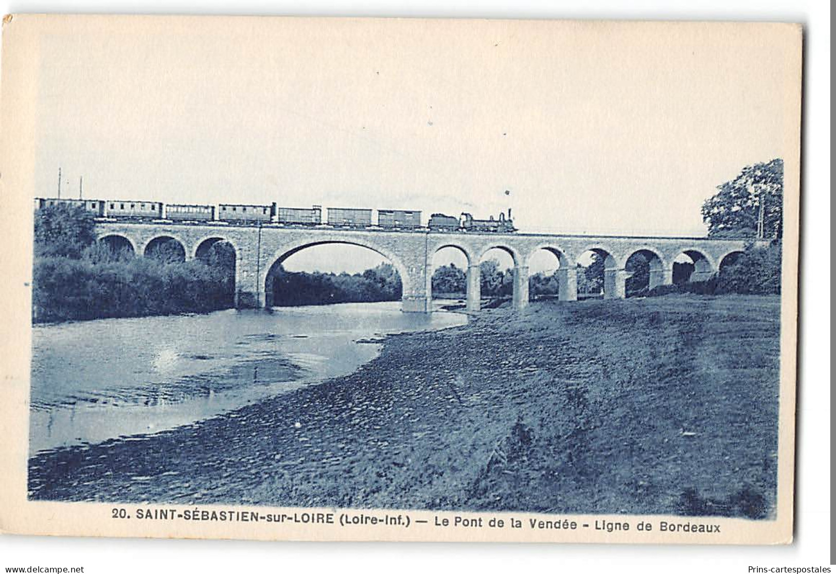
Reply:
M33 321L140 317L232 307L235 256L212 247L206 262L184 262L183 248L161 244L134 257L95 241L94 218L59 204L35 215Z

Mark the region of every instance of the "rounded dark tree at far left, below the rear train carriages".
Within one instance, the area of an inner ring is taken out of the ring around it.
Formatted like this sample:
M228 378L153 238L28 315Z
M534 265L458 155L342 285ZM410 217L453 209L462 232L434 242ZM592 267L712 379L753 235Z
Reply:
M35 255L79 259L95 243L94 216L81 206L59 203L35 213Z

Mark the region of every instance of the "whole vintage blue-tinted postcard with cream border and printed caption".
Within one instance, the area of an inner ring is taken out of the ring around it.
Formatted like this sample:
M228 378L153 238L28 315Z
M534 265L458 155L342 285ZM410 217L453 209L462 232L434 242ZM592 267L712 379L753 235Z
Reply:
M801 54L6 16L0 530L792 541Z

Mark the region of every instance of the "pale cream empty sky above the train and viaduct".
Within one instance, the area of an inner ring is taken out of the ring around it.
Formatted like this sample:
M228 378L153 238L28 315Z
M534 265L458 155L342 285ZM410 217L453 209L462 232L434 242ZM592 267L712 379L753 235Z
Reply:
M787 56L723 25L85 24L40 46L36 194L61 167L64 195L83 176L95 199L511 207L521 231L702 236L716 185L787 150ZM344 248L319 249L288 267L339 270Z

